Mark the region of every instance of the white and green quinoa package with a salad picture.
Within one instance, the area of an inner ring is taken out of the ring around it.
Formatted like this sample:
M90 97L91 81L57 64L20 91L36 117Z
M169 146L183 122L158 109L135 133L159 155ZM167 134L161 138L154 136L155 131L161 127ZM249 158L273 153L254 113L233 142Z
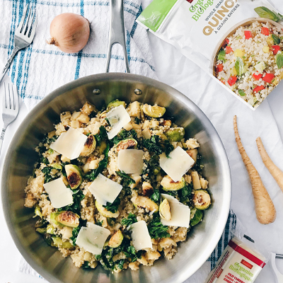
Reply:
M137 18L253 110L283 79L282 20L265 0L154 0Z

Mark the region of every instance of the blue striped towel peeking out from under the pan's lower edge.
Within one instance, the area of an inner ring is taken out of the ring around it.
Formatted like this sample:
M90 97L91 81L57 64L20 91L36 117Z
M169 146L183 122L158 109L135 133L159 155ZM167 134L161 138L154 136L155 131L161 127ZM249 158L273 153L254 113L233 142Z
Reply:
M200 267L194 275L192 275L189 279L185 281L185 283L202 283L209 275L209 272L214 268L216 265L217 260L219 260L221 253L223 252L224 248L228 245L229 241L233 237L234 234L241 234L243 233L243 227L241 223L237 221L236 214L233 213L232 210L229 212L228 220L226 222L226 226L222 236L214 249L212 255L208 258L204 265ZM33 270L28 262L26 262L23 258L21 258L21 262L19 265L19 271L26 273L28 275L33 275L36 277L42 278L35 270Z

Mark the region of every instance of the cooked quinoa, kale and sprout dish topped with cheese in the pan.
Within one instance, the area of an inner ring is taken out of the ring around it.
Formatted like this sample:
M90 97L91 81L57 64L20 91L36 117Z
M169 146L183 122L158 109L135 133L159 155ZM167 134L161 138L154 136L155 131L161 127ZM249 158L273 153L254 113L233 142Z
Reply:
M101 111L85 103L62 112L36 147L25 207L35 209L47 244L76 267L100 262L120 272L171 260L202 221L211 199L200 144L185 140L165 112L137 101L115 100Z

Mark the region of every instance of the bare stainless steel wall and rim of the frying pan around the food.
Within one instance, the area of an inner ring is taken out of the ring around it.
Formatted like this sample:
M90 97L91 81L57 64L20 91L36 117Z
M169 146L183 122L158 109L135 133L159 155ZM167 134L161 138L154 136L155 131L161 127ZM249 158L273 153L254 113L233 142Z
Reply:
M53 129L60 112L79 110L89 101L99 109L114 99L127 103L162 105L185 128L186 137L196 137L209 180L212 206L204 221L179 245L173 260L158 260L152 267L111 274L96 267L82 270L71 258L62 258L55 248L47 246L35 232L33 209L23 207L25 185L37 160L34 149L46 132ZM224 230L231 202L231 176L224 146L213 125L190 99L164 83L134 74L97 74L67 83L50 93L33 108L18 128L8 148L1 179L1 200L13 241L25 260L50 282L174 282L185 281L198 270L214 250Z

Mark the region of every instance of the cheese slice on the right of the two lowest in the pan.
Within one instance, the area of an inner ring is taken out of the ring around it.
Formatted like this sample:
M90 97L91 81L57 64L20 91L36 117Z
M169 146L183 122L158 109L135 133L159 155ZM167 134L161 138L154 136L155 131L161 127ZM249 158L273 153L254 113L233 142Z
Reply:
M131 237L136 250L152 248L151 237L149 236L149 230L147 229L146 221L141 220L129 225L128 230L132 231Z

